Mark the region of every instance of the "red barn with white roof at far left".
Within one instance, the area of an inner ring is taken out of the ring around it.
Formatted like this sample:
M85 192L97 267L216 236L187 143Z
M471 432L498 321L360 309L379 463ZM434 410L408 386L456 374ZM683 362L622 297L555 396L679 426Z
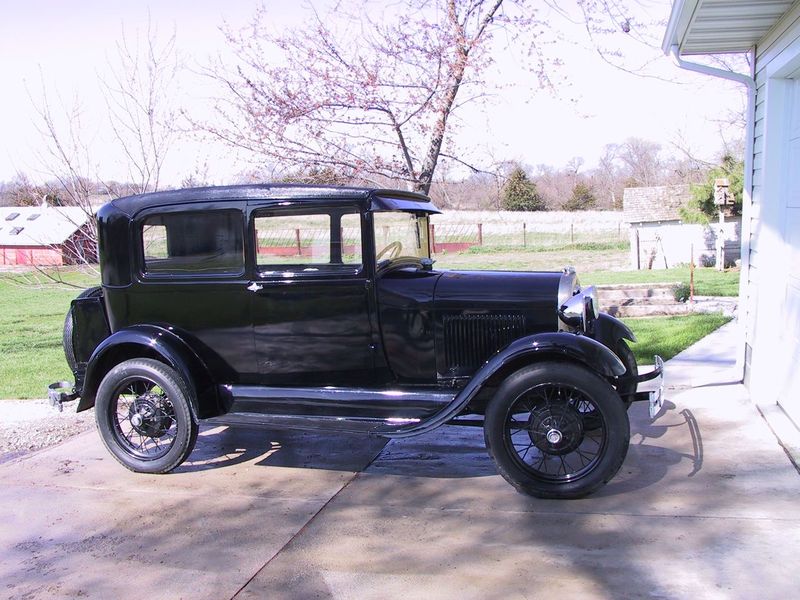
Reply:
M93 218L77 206L0 207L0 265L97 262Z

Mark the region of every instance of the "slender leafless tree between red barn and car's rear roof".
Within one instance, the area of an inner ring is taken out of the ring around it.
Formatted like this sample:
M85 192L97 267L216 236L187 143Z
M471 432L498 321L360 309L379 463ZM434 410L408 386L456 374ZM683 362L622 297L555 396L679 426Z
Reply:
M112 65L114 75L101 81L110 130L122 148L133 179L129 184L103 181L92 143L98 131L84 127L85 112L77 99L67 104L58 98L51 100L42 78L41 91L31 103L38 119L36 126L46 140L45 150L38 155L40 177L48 204L79 207L85 218L73 222L80 228L72 246L62 247L69 262L82 264L96 271L97 230L94 214L97 204L123 194L157 190L161 169L177 127L176 111L171 108L169 93L176 78L175 36L159 44L157 32L148 28L144 50L137 44L131 47L124 35L117 46L118 64ZM102 129L95 118L94 126ZM57 209L54 209L57 210ZM61 211L66 217L67 212ZM66 283L56 271L39 270L33 280Z

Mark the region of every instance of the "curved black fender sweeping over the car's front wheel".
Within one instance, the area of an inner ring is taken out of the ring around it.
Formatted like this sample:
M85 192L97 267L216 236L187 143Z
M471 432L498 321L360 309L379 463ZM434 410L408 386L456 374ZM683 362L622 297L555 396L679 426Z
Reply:
M537 333L515 340L492 356L458 395L430 418L393 431L376 433L387 437L404 438L435 429L458 415L495 373L515 362L524 361L527 364L537 359L553 357L585 364L605 377L618 377L625 373L625 365L617 355L597 340L567 332Z

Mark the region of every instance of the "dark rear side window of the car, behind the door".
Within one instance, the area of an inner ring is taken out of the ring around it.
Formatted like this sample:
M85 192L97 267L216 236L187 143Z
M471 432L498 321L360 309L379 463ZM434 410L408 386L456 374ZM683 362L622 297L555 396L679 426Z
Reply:
M147 274L230 275L244 270L242 213L238 210L175 212L142 224Z

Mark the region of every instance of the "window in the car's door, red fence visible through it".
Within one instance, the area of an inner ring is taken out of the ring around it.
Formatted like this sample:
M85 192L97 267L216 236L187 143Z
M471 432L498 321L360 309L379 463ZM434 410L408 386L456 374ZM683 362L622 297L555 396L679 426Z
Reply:
M357 273L361 270L361 216L325 212L257 213L256 265L273 273Z

